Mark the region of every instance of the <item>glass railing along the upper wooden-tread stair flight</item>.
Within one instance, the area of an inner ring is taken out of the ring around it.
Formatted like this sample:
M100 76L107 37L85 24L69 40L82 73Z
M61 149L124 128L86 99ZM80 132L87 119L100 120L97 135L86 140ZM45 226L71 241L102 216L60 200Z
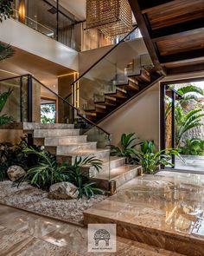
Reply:
M127 84L128 76L140 75L143 69L152 68L142 39L132 40L137 35L136 31L137 27L72 83L73 104L79 108L81 115L93 121L97 120L99 115L100 119L103 115L101 109L98 109L97 114L93 113L94 109L101 108L98 104L109 101L111 111L112 95L118 91L122 97L125 92L125 89L122 86L119 88L118 85Z

